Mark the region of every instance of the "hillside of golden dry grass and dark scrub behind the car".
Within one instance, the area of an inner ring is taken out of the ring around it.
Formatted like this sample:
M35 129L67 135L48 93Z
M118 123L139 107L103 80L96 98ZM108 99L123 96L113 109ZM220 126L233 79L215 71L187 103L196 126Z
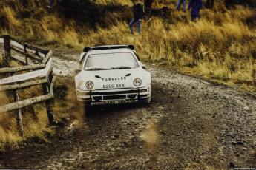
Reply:
M157 1L153 7L169 7L171 12L165 16L145 13L142 35L132 36L128 29L131 1L62 0L49 9L47 2L1 1L1 35L78 50L134 44L145 61L255 86L256 12L250 7L226 9L218 0L213 9L204 7L200 21L193 23L188 10L175 10L176 0Z

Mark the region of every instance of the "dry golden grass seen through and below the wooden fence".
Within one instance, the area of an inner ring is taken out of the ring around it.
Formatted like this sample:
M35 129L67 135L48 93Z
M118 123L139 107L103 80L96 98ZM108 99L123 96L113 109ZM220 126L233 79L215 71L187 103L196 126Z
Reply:
M22 101L27 98L42 95L40 86L33 86L18 92ZM13 92L1 92L0 106L13 103ZM25 145L25 139L36 142L47 142L47 137L54 134L54 127L48 127L47 111L44 103L28 106L21 109L24 132L20 133L20 128L16 122L16 111L0 114L0 151Z

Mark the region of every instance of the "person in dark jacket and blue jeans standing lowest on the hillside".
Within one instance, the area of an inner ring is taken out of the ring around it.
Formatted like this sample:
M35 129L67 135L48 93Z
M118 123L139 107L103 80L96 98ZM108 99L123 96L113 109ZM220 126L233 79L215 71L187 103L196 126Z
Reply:
M133 7L134 10L134 18L131 20L131 22L129 23L129 27L131 30L131 33L134 34L134 27L133 24L135 22L137 22L137 27L138 27L138 34L140 35L140 30L141 30L141 20L142 20L142 16L143 16L143 7L140 4L139 0L135 0L135 4Z

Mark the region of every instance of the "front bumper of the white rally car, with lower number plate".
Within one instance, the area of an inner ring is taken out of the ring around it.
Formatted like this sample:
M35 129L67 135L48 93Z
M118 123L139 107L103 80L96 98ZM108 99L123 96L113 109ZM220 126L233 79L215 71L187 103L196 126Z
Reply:
M109 105L123 103L149 103L151 100L151 85L129 89L99 89L80 90L76 89L78 101L85 105Z

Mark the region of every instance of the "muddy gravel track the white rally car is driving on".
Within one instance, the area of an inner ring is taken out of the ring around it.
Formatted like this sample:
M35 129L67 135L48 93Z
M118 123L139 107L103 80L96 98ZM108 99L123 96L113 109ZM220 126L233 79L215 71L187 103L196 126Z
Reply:
M70 76L79 52L51 49ZM0 154L2 169L256 168L256 96L148 65L152 101L85 112L50 143Z

